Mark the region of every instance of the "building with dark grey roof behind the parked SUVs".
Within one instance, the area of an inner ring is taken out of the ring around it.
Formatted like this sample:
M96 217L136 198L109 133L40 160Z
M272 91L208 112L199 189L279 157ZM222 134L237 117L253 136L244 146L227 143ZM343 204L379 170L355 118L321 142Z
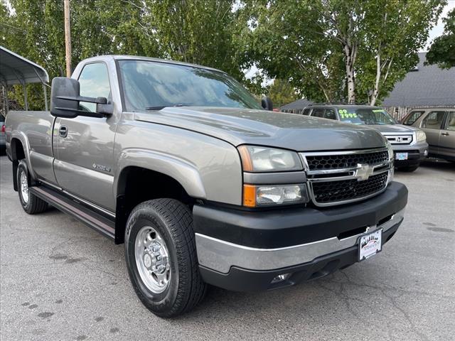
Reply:
M397 82L380 104L397 119L416 107L455 107L455 67L441 69L437 65L424 65L426 55L419 53L417 66ZM309 104L307 99L299 99L281 109L300 114Z

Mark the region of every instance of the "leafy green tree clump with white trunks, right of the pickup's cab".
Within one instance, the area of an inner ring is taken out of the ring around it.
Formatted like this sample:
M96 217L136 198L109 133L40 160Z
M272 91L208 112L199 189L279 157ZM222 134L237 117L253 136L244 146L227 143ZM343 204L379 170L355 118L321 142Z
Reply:
M446 1L248 1L251 58L314 101L370 102L417 63Z

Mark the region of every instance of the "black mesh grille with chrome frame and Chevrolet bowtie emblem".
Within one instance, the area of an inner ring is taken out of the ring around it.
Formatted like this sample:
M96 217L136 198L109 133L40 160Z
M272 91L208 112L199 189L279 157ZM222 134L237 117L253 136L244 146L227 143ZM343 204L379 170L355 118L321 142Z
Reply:
M385 148L300 155L316 206L342 205L382 193L393 171Z

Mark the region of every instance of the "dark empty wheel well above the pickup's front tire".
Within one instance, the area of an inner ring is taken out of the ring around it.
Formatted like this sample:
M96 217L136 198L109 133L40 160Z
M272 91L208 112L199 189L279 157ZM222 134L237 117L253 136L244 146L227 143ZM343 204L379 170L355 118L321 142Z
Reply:
M140 167L127 167L119 175L115 212L115 244L124 242L129 213L146 200L171 198L193 207L194 200L180 183L170 176Z

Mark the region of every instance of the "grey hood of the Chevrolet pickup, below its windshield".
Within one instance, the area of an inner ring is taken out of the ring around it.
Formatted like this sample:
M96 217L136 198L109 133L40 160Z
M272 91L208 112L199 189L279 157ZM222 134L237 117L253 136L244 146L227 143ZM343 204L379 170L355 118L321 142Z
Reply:
M253 144L294 151L324 151L385 146L375 129L331 119L256 109L166 107L134 112L134 119L196 131L239 146Z

